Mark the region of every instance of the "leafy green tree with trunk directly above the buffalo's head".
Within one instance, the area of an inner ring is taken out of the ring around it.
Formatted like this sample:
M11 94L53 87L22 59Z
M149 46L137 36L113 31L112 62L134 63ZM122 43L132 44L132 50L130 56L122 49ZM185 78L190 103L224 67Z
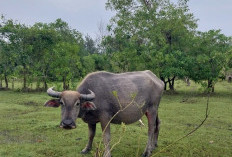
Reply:
M68 24L61 19L49 24L57 33L58 42L53 49L53 68L55 75L60 75L58 80L63 81L63 88L69 88L69 82L74 77L80 78L82 74L82 62L80 58L88 53L85 50L84 40L80 32L71 29ZM61 63L62 62L62 63ZM60 71L59 71L59 68Z

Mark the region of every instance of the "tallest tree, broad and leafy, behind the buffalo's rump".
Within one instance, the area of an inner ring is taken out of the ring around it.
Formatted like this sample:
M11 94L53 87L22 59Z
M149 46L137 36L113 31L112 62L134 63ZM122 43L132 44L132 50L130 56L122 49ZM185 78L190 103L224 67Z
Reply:
M107 8L117 14L108 26L111 35L103 41L106 52L136 51L135 55L139 58L136 61L143 61L143 68L159 74L165 87L169 83L169 88L174 90L175 78L186 74L183 66L190 45L187 41L193 38L197 27L187 2L108 0ZM131 62L126 64L132 65L134 60L127 59ZM139 62L134 66L140 66Z

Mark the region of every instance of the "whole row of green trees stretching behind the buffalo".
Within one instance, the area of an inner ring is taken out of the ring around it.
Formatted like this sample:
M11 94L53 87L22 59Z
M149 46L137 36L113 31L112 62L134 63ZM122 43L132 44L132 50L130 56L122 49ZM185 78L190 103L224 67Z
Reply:
M73 81L93 71L126 72L149 69L174 90L177 78L189 78L214 89L232 68L231 38L220 30L197 31L187 0L108 0L116 12L97 42L61 19L26 26L1 17L0 87L20 78L47 89L50 81ZM43 84L43 85L42 85Z

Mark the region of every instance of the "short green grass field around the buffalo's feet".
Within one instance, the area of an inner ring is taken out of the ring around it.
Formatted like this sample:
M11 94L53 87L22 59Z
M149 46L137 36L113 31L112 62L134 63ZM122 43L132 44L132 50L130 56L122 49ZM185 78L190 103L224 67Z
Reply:
M164 93L159 117L159 147L153 156L232 156L232 84L219 82L209 101L210 114L205 124L191 136L172 144L192 129L205 116L207 96L199 85L187 87L177 81L175 93ZM81 155L87 143L88 127L81 119L77 128L59 128L60 108L45 108L46 93L0 91L0 156L1 157L92 157L99 145L101 129L93 150ZM147 123L146 117L143 122ZM141 156L147 141L147 125L111 125L113 157ZM120 138L122 137L122 138Z

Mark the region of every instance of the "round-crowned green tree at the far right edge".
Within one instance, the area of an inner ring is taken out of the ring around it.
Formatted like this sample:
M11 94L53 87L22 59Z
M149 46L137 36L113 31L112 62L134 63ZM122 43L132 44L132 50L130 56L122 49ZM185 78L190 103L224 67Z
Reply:
M220 72L227 65L230 38L220 30L199 32L195 38L194 50L189 56L189 77L196 82L207 81L207 88L214 92Z

